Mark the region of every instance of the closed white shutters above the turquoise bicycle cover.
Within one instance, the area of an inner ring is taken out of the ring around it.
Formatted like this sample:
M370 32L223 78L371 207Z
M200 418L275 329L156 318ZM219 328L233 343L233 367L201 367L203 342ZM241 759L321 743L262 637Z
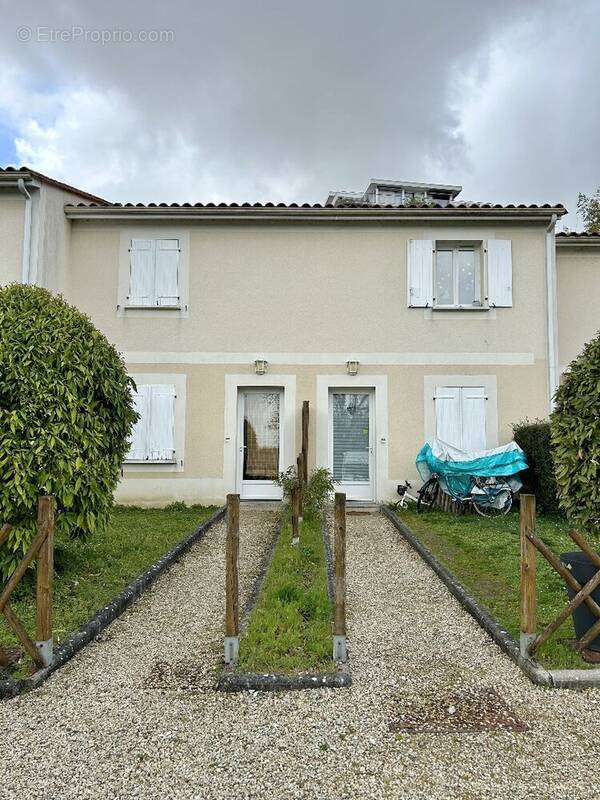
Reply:
M485 450L486 401L483 386L436 386L437 438L460 450Z

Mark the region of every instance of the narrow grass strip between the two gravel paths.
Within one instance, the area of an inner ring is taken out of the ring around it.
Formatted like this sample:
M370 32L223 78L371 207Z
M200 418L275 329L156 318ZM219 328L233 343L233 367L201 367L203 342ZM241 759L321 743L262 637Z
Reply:
M283 526L240 641L241 672L334 672L332 608L320 517L305 517L300 544Z

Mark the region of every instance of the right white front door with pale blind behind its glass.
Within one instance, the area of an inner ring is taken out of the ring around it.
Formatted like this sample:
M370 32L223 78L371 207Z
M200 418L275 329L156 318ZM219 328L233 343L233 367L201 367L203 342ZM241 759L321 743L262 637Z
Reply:
M329 464L336 491L348 500L374 500L374 393L332 389L329 393Z

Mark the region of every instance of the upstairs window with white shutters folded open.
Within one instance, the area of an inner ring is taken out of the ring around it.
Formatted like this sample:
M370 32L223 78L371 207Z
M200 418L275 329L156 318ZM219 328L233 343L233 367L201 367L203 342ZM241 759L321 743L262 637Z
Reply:
M408 305L442 310L509 308L512 242L408 242Z

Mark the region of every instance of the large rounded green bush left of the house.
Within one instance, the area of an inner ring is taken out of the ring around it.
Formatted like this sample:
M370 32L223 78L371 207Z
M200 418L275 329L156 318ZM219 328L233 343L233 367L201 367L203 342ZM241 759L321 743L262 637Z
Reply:
M0 548L12 572L36 528L40 494L56 497L56 531L108 522L137 414L115 348L65 300L36 286L0 289Z

